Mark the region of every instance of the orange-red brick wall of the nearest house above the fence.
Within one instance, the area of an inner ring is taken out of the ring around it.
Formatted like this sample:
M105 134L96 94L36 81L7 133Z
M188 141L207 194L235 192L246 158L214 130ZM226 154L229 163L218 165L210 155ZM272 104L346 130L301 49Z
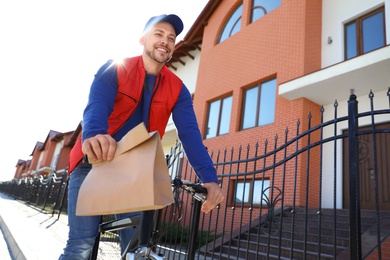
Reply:
M274 124L239 131L242 88L275 76L277 83L281 84L320 69L321 16L318 14L321 13L321 1L284 1L279 8L252 24L245 22L249 17L244 11L241 31L215 44L227 12L235 8L235 2L223 1L220 4L210 18L203 37L194 96L202 131L206 124L207 102L227 93L233 94L230 132L226 136L206 140L209 147L230 146L237 144L236 140L245 144L273 138L287 126L294 127L298 118L306 119L307 111L300 108L304 102L294 104L278 96ZM244 5L247 2L244 1ZM306 2L309 2L310 9L316 7L317 12L311 11L310 15L306 15L305 11L309 9ZM306 26L306 23L309 25ZM313 33L315 26L316 35ZM318 116L319 110L320 107L314 107L311 113Z

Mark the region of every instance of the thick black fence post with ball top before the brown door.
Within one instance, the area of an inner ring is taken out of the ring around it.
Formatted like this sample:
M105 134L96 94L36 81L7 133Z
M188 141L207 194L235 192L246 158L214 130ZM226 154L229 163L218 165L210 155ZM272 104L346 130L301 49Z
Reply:
M348 100L350 259L362 259L357 104L352 90Z

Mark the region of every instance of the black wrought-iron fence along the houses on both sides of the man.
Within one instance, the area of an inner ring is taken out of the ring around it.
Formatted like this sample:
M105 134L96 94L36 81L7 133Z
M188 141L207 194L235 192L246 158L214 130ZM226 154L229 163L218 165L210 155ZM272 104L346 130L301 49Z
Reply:
M358 112L351 94L346 116L338 116L335 102L330 113L321 109L315 126L308 115L292 134L286 129L271 141L211 152L226 200L201 216L196 258L387 259L390 89L385 95L380 109L374 109L370 92L364 101L368 111ZM180 144L172 154L171 175L195 180ZM23 179L3 183L0 191L49 206L54 214L65 204L66 179ZM190 198L183 200L181 210L180 222L169 229L159 249L168 259L186 255L186 227L193 218Z

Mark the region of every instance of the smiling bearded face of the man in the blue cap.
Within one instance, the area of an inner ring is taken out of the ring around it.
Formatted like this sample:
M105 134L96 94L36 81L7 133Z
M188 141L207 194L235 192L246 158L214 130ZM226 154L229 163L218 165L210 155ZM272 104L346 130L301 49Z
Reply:
M144 53L158 63L165 63L171 59L175 42L175 30L166 22L157 23L141 38Z

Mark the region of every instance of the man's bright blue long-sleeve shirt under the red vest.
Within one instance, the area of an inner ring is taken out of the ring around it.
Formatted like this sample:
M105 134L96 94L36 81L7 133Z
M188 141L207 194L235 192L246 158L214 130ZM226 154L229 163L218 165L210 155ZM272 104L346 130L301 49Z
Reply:
M83 116L83 140L98 134L107 134L108 117L114 109L118 88L116 67L112 62L104 64L95 75L88 104ZM147 126L149 108L156 76L146 75L143 95L133 115L113 135L119 141L129 130L144 122ZM218 182L213 162L203 145L191 94L183 84L172 118L183 144L187 158L203 183Z

